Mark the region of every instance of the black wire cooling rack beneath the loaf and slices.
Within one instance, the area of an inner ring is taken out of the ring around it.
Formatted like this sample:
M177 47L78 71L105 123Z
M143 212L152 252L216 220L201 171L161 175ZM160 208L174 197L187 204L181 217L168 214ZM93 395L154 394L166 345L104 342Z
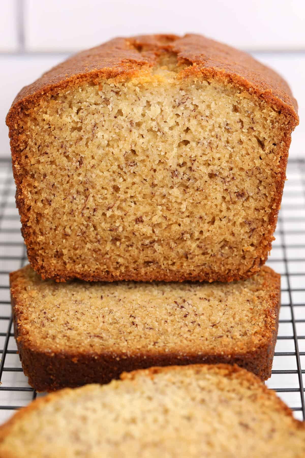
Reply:
M269 388L305 419L305 161L290 160L268 264L281 274L282 306ZM11 321L8 274L27 263L10 161L0 162L0 423L36 398L23 375ZM304 369L303 369L304 368ZM39 393L38 396L43 394Z

